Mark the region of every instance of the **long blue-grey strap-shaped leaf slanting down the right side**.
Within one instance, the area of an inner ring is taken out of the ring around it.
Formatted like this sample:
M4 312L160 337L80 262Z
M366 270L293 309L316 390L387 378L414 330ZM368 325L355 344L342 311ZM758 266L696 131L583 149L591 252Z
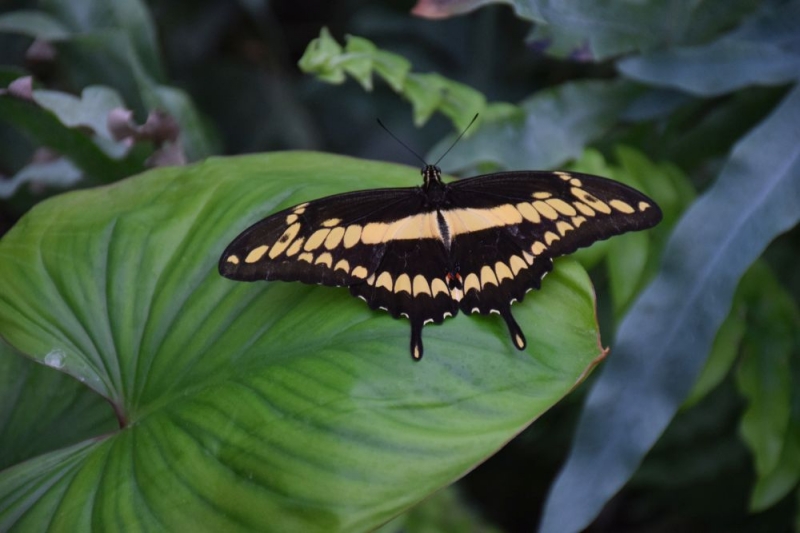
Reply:
M587 397L542 532L584 529L628 480L690 392L740 277L800 220L798 122L800 87L736 145L676 226Z

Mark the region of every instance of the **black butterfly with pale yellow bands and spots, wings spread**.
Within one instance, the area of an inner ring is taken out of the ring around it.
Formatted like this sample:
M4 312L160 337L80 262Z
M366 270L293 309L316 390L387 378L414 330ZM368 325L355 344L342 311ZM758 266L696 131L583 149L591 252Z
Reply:
M538 289L553 259L655 226L661 210L621 183L575 172L498 172L452 183L436 165L418 187L349 192L255 223L225 249L222 276L347 286L372 309L422 328L465 313L499 314L514 345L511 304Z

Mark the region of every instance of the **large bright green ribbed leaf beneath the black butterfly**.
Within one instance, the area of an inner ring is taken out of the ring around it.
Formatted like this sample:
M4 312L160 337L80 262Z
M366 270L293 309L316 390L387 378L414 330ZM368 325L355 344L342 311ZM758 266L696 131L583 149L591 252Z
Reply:
M291 152L163 168L43 202L0 241L0 334L123 427L0 473L0 529L370 529L451 483L603 353L562 260L514 311L405 321L343 289L236 283L217 259L274 209L418 171Z

